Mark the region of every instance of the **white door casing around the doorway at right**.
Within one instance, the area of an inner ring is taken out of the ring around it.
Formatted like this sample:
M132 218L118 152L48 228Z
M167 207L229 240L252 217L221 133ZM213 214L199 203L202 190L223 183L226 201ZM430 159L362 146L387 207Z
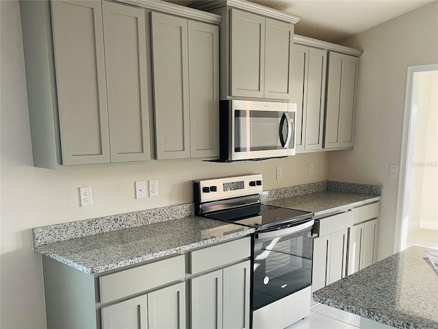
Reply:
M413 154L413 134L415 132L415 95L413 95L413 84L415 83L415 73L438 71L438 64L408 66L406 95L404 97L404 117L402 146L400 149L400 175L398 178L396 228L394 230L394 253L406 247L407 229L409 226L409 188L407 180L411 178L411 166L409 158Z

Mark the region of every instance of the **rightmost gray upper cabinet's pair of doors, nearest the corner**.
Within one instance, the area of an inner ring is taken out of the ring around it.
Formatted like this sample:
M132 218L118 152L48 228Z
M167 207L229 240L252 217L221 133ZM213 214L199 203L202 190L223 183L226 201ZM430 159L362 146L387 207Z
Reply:
M329 53L327 77L326 123L324 148L353 147L359 58L342 53Z

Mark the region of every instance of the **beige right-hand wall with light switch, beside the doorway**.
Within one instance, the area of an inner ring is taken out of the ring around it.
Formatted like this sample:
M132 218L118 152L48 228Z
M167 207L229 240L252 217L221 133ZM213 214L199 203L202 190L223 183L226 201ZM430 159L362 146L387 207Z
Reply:
M329 180L383 184L378 259L394 249L398 180L389 165L400 162L407 67L438 62L437 17L435 2L343 42L364 51L356 145L329 154Z

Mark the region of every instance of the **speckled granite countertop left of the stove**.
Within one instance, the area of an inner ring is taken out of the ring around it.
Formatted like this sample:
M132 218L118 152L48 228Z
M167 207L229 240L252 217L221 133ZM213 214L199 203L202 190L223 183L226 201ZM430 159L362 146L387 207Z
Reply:
M79 271L94 274L253 232L252 228L231 223L186 217L36 245L34 249Z

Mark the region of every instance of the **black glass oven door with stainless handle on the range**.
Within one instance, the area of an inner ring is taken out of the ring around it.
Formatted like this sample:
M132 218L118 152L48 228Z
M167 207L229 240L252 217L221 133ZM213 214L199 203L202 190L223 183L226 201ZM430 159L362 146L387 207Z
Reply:
M311 286L313 219L255 235L253 310Z

